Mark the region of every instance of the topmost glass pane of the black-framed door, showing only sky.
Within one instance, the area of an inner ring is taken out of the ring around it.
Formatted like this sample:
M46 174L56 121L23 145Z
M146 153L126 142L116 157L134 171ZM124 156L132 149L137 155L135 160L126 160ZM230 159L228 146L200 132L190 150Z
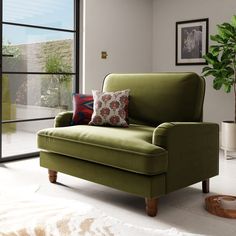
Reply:
M4 0L3 21L74 29L74 0Z

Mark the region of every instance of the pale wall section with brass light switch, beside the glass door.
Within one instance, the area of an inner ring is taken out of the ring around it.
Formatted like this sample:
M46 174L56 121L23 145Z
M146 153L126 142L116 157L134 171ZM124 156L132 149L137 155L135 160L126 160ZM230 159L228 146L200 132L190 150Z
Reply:
M83 92L101 89L112 72L152 70L153 1L84 0ZM101 59L101 51L108 58Z

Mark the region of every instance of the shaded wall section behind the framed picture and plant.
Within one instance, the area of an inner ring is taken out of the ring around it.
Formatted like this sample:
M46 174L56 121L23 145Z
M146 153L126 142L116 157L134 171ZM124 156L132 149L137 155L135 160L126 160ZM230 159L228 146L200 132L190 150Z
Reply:
M154 0L153 5L153 71L194 71L202 66L175 66L175 22L209 18L209 33L216 33L216 24L229 21L236 13L235 0ZM234 118L233 94L212 88L207 79L204 120L220 123Z

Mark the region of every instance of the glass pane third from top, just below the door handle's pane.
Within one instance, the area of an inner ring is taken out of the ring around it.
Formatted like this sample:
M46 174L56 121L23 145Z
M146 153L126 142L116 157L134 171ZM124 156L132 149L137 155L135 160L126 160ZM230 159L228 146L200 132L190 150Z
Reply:
M2 77L2 120L55 116L72 110L71 75L4 74Z

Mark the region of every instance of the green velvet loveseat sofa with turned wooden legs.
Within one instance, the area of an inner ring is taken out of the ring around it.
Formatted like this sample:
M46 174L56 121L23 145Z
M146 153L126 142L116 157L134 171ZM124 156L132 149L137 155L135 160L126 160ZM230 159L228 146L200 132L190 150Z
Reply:
M149 216L162 195L218 174L219 127L202 122L204 79L195 73L110 74L103 91L130 89L129 128L70 126L38 133L40 165L144 197Z

